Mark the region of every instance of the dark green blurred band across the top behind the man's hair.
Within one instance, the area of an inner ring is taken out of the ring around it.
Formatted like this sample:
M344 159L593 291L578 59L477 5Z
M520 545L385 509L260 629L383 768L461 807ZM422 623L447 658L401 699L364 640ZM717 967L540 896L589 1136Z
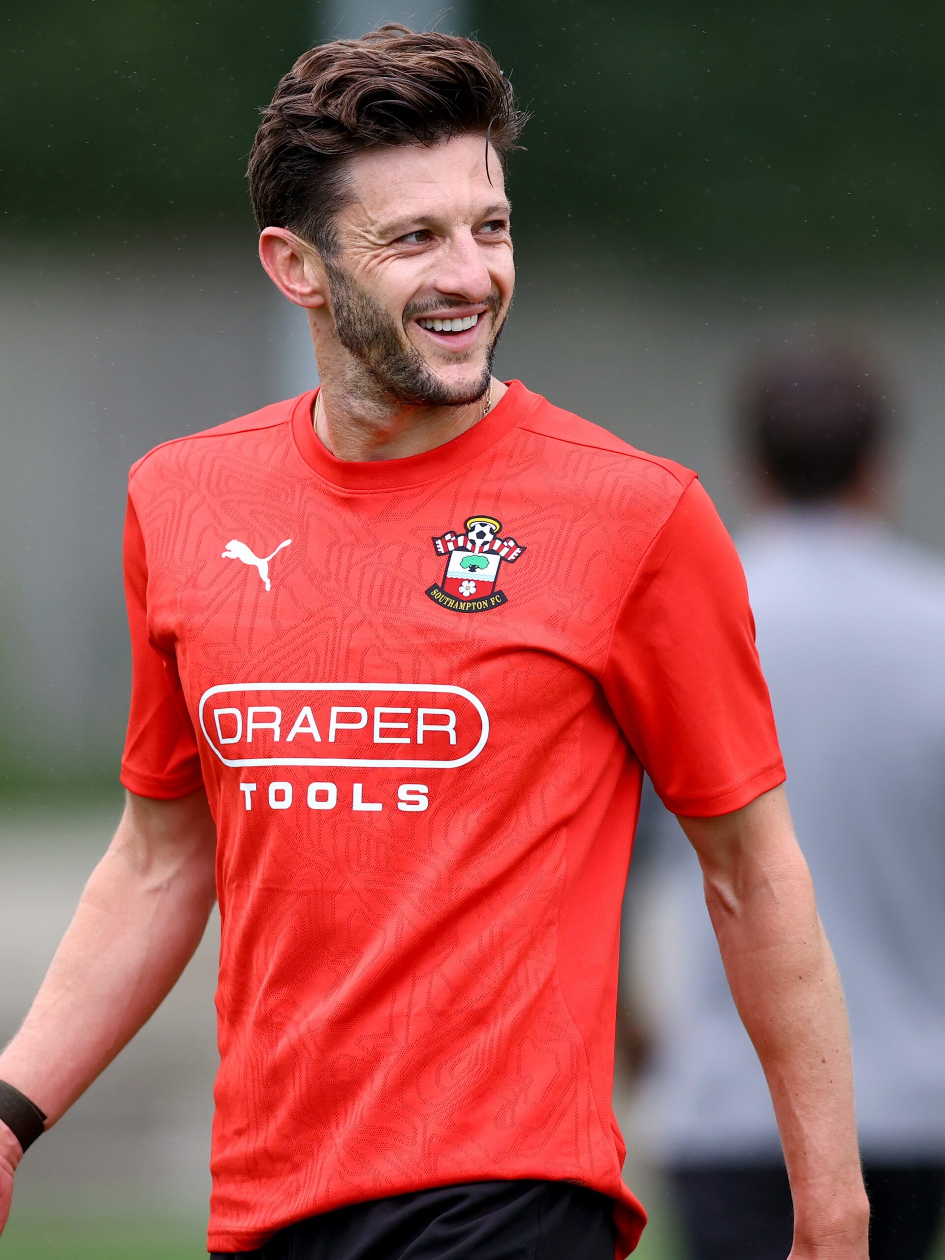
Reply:
M840 280L942 258L941 5L479 0L469 18L534 113L519 236ZM6 231L247 233L255 111L331 25L285 0L10 9Z

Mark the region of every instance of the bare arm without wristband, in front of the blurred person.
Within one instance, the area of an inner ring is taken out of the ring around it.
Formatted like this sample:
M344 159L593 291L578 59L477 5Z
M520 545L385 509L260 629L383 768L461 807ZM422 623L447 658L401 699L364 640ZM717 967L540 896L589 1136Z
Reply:
M867 1260L847 1011L784 789L679 823L771 1090L794 1198L791 1260Z

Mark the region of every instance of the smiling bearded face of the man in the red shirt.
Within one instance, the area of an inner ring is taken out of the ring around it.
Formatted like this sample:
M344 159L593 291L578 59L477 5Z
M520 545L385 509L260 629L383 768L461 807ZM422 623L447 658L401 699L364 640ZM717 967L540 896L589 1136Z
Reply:
M495 151L486 173L481 136L377 149L352 159L350 178L355 200L336 215L339 253L325 261L338 340L397 402L472 402L515 280Z

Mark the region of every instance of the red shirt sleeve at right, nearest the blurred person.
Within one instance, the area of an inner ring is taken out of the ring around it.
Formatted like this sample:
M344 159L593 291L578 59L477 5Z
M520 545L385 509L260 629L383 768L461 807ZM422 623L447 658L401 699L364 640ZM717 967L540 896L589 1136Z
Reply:
M698 481L630 581L601 683L674 814L727 814L784 782L745 575Z

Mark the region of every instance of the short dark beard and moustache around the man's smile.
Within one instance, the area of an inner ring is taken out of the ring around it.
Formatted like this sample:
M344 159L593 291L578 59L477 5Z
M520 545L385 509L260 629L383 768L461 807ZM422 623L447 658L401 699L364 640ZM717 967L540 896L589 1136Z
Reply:
M428 311L428 304L408 302L403 311L403 329L384 307L339 267L325 263L331 315L338 339L353 355L360 386L358 392L381 404L411 407L462 407L481 398L489 388L493 360L505 320L494 323L481 373L469 384L449 386L427 365L422 354L406 340L406 325ZM437 311L462 302L440 302ZM486 314L498 320L500 299L490 294ZM480 316L481 318L481 316ZM403 336L401 333L403 331ZM404 344L406 340L406 344ZM354 381L350 384L355 384Z

